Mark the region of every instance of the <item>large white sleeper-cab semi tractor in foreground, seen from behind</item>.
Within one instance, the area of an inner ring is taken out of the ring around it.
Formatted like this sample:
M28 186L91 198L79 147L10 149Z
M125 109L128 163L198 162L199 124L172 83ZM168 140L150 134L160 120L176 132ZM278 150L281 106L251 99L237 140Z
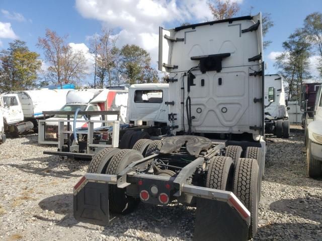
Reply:
M129 213L139 200L178 200L197 207L194 240L256 234L265 162L261 21L259 14L159 28L171 135L95 155L74 186L77 220L106 225L110 213Z

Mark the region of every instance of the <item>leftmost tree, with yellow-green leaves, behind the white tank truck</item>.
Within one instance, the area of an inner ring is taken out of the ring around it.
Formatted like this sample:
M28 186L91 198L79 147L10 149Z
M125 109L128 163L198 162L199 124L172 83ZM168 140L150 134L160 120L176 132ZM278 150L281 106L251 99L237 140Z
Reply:
M4 92L35 88L41 67L39 54L29 51L26 42L21 40L9 46L0 53L0 89Z

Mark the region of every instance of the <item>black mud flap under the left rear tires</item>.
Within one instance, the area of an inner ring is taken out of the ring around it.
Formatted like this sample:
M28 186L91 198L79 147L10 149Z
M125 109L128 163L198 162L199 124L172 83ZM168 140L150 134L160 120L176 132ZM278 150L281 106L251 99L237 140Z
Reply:
M87 182L73 196L74 218L81 222L106 225L109 216L109 184Z

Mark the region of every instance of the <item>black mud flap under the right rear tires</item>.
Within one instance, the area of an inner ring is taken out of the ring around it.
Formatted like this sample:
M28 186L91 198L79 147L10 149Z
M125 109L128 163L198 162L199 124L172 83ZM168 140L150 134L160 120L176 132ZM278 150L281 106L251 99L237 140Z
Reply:
M227 202L197 198L193 240L245 241L248 228L246 221Z

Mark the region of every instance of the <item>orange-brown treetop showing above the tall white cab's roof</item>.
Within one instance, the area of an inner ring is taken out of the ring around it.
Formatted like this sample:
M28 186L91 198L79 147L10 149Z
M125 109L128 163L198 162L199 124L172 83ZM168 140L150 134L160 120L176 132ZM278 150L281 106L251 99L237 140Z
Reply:
M230 0L215 0L215 4L208 3L209 9L215 20L229 19L239 11L239 5Z

